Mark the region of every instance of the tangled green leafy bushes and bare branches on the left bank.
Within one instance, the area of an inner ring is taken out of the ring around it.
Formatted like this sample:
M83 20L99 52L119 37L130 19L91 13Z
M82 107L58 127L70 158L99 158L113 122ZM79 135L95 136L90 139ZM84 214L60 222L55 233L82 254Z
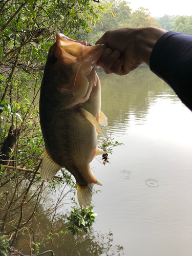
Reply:
M57 236L66 237L72 232L78 237L80 231L89 230L88 237L92 237L93 206L78 207L71 174L62 169L49 183L40 179L44 140L38 110L40 82L55 34L62 32L79 39L80 34L89 33L88 23L99 22L101 14L107 11L104 5L97 3L93 7L92 3L90 0L0 2L0 253L4 255L15 254L13 247L18 241L22 241L24 248L19 255L25 252L40 255L46 252L43 245L47 241L53 244ZM45 201L48 195L51 202ZM66 204L63 199L75 206L62 216L60 223L65 225L56 228L57 211ZM38 225L45 220L48 228L40 230ZM102 236L99 234L96 240L92 237L100 254L106 249L99 240ZM88 237L81 239L81 243ZM112 237L106 237L106 245L111 247ZM116 252L122 250L111 248ZM108 250L110 253L111 249Z

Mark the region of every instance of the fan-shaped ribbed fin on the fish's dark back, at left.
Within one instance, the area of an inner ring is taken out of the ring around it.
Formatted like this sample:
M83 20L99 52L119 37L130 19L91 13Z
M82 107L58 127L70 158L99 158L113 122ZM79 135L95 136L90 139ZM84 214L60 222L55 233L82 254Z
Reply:
M61 169L61 165L58 164L53 158L50 156L47 148L44 150L44 157L42 158L41 168L40 168L40 176L41 179L45 181L49 181L53 176Z

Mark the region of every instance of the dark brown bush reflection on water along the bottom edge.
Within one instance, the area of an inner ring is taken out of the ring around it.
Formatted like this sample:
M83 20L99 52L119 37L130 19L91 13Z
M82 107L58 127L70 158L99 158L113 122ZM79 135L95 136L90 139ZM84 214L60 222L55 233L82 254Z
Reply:
M43 205L38 210L44 210ZM22 253L26 252L27 254L28 246L26 241L32 240L33 236L35 236L35 239L39 238L40 252L52 250L54 255L59 256L123 255L123 247L113 245L113 233L111 231L103 234L91 229L88 233L83 231L74 236L71 233L63 233L63 236L61 236L59 231L62 229L65 232L67 229L67 215L58 214L57 212L55 218L53 216L51 215L46 219L44 216L38 217L36 220L38 225L36 225L36 221L32 223L32 228L23 231L25 240L20 236L14 246L22 248ZM46 234L50 235L51 242L50 239L45 240L45 238L48 238ZM46 254L50 254L50 252Z

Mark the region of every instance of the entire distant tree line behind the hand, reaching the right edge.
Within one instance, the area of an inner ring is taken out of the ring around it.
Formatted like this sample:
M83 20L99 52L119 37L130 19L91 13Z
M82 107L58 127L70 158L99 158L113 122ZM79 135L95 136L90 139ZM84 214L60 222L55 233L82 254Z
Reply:
M167 15L163 17L152 17L147 8L140 7L132 11L130 3L124 0L101 0L100 4L107 6L105 12L100 16L99 22L89 23L89 33L81 33L81 40L87 40L91 44L95 42L107 31L122 27L158 27L167 31L178 31L192 35L192 16ZM93 3L93 9L97 8L97 3Z

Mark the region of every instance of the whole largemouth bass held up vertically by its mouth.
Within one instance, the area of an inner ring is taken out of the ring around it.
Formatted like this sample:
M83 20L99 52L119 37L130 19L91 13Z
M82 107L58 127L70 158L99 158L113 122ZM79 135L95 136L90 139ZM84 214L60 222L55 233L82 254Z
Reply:
M45 141L41 178L49 181L62 167L75 178L80 207L92 200L94 177L90 163L106 152L97 148L100 124L107 118L101 112L101 85L96 62L105 45L91 46L56 34L41 82L39 116ZM101 185L102 186L102 185Z

